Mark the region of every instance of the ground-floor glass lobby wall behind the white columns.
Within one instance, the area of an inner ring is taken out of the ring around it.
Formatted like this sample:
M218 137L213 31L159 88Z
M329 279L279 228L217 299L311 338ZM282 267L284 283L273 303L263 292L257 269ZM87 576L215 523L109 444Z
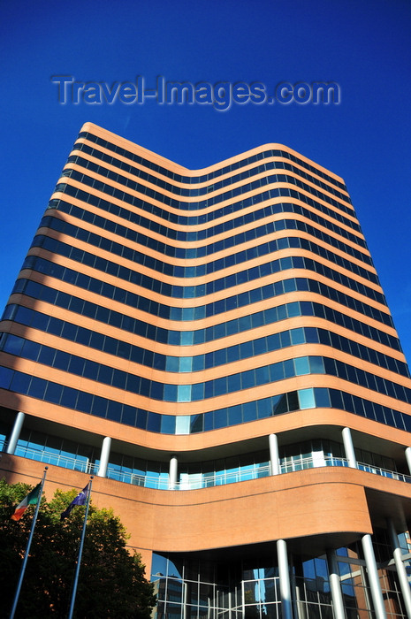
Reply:
M407 619L385 531L377 531L373 543L387 617ZM346 619L374 619L361 543L336 554ZM275 551L264 558L245 552L232 560L217 559L154 553L151 580L158 603L153 619L281 619ZM334 619L325 555L293 556L290 581L294 619Z

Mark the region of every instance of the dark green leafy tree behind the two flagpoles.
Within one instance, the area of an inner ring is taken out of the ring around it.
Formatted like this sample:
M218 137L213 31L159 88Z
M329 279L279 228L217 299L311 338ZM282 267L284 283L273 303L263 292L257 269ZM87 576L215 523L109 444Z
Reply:
M10 613L34 508L19 522L11 520L15 506L31 490L26 484L0 480L0 616ZM77 491L60 490L51 501L42 497L17 619L65 617L70 607L84 507L60 521ZM77 619L130 617L149 619L156 603L153 585L144 576L139 554L128 552L126 529L111 509L90 504L74 616Z

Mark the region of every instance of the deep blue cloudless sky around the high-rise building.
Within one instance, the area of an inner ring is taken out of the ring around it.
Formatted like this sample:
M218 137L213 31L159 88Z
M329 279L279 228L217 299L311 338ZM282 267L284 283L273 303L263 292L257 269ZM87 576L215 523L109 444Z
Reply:
M0 9L0 307L92 121L190 168L284 143L346 180L411 361L411 3L90 0ZM339 105L58 103L78 81L335 81Z

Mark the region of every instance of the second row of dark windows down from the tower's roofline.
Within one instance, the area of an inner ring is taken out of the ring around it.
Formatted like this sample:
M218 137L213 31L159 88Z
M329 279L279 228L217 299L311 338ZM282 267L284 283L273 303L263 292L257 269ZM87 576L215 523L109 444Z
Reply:
M195 196L195 195L207 195L212 191L217 191L218 189L223 189L228 187L229 185L233 185L234 183L240 182L241 180L246 180L251 178L252 176L256 176L257 174L261 174L263 172L269 172L270 170L282 169L288 170L289 172L293 172L298 176L301 176L303 179L311 181L318 187L322 187L324 191L328 191L341 200L348 200L348 196L346 194L341 193L335 187L331 186L329 183L323 182L322 180L318 180L316 177L308 174L308 172L304 172L301 168L293 164L288 164L285 161L277 160L277 161L266 161L264 164L256 165L254 168L249 170L245 170L243 172L239 172L237 174L233 174L229 178L225 180L218 180L217 182L209 185L207 187L179 187L177 185L173 185L163 179L159 179L157 176L153 176L148 172L145 172L140 167L136 167L135 165L127 164L121 159L117 159L116 157L111 157L110 155L106 155L101 150L96 150L88 144L80 143L76 144L76 150L80 150L83 153L91 155L100 161L103 161L105 164L110 164L116 168L124 172L128 172L129 174L133 174L140 179L147 180L152 185L156 185L157 187L162 187L166 191L170 191L176 195L184 195L184 196ZM88 161L88 159L84 159L82 157L78 157L77 155L72 155L67 159L67 163L80 164L85 168L93 165L92 162ZM95 168L92 168L95 169ZM132 186L130 186L132 187ZM352 209L346 210L346 212L352 213Z

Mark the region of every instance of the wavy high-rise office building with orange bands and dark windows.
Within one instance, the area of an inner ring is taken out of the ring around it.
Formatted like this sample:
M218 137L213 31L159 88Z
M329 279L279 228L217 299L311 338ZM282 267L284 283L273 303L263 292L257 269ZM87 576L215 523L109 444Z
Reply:
M411 380L338 176L86 124L0 328L3 474L95 474L157 619L411 617Z

